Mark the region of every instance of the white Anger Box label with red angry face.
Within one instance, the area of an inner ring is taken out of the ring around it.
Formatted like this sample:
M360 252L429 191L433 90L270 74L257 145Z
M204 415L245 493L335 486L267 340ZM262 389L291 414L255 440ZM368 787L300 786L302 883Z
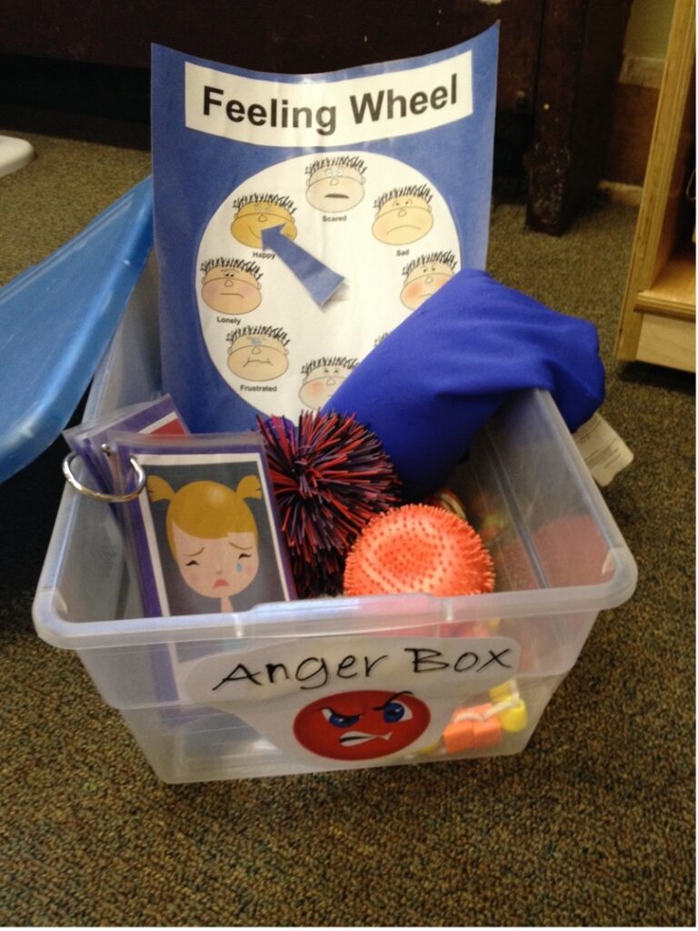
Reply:
M517 674L508 637L325 637L211 654L174 668L180 694L241 718L324 767L432 747L454 710Z

